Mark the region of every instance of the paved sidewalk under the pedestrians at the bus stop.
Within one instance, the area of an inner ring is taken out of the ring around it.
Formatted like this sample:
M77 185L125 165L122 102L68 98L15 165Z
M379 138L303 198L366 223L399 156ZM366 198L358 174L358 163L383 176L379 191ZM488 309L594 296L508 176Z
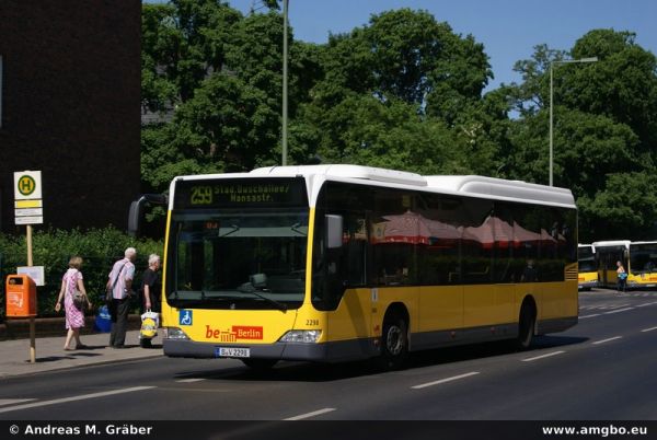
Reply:
M162 329L152 340L152 348L139 346L139 331L128 331L124 349L108 348L108 333L94 333L80 336L87 349L65 351L66 329L61 336L37 337L36 362L30 362L30 339L0 341L0 379L33 374L122 360L143 359L162 356ZM74 340L72 341L74 345Z

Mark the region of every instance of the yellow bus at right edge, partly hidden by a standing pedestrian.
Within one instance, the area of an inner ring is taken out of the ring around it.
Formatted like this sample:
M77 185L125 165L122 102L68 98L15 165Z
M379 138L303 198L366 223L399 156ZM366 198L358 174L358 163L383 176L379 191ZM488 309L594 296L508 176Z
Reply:
M616 262L621 262L627 271L626 288L657 287L657 242L614 240L595 242L593 246L600 286L616 287Z

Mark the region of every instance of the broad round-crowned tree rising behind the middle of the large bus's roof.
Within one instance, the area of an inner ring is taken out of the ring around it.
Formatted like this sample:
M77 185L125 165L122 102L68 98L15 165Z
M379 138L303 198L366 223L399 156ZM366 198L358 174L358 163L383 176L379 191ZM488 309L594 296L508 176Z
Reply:
M492 73L472 36L401 9L332 35L315 54L323 76L292 123L290 143L299 151L433 174L499 166L489 130L505 131L497 121L508 105L499 96L482 100Z

